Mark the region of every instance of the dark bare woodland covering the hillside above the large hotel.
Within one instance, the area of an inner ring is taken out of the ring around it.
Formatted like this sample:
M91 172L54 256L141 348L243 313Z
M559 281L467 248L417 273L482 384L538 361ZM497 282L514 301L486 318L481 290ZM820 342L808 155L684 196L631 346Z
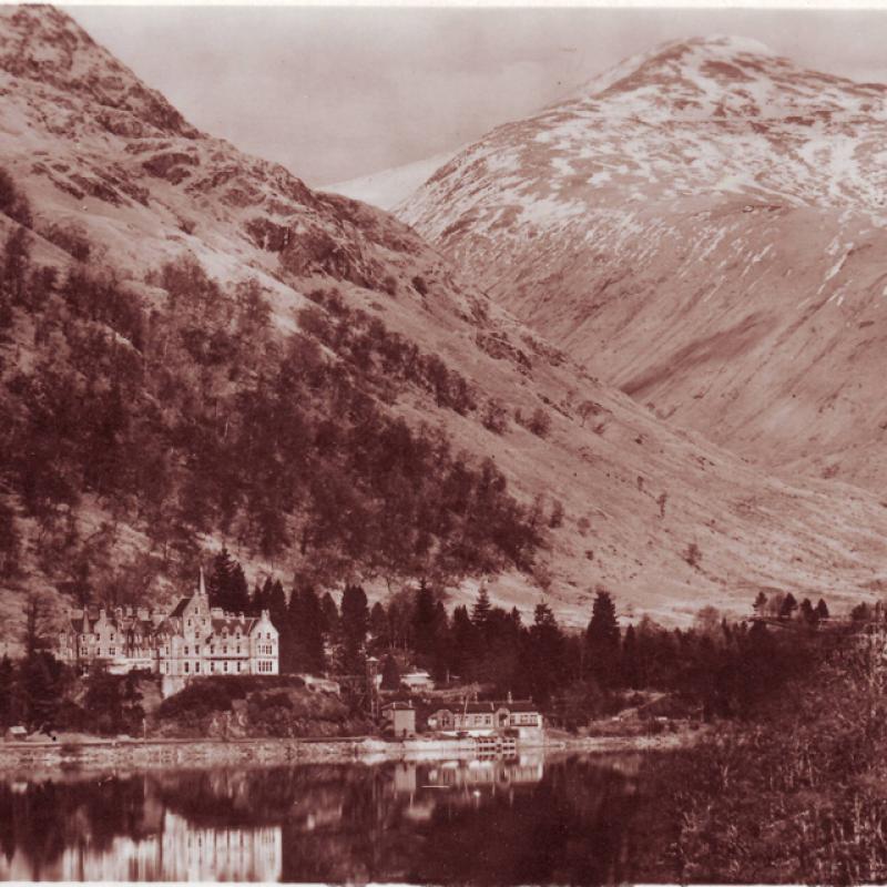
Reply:
M223 290L183 257L152 275L159 295L149 307L113 274L75 261L59 273L38 265L32 247L17 225L0 265L0 337L30 336L35 355L2 368L6 578L21 561L18 506L37 521L44 567L80 569L70 581L104 595L81 563L75 513L85 495L114 519L135 516L157 569L174 575L197 558L197 533L286 559L307 582L531 568L544 544L539 503L520 504L491 459L388 414L416 356L404 340L370 324L360 335L376 344L351 336L339 343L345 357L329 357L315 335L272 328L254 279ZM359 358L367 349L373 371ZM458 374L416 359L440 402L468 408L473 396Z

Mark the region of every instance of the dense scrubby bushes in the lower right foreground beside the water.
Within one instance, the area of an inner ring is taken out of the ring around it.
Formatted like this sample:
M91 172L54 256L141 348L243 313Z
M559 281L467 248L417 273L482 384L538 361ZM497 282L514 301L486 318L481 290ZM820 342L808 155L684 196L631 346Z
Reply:
M820 632L797 661L748 721L655 781L673 798L675 879L887 880L887 626Z

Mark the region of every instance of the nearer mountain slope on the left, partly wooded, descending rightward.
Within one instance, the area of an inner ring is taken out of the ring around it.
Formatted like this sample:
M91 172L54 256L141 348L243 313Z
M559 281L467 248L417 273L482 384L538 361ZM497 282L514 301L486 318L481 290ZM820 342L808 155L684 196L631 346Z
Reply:
M198 132L65 13L0 9L0 91L7 638L28 592L169 601L222 544L251 582L429 572L570 624L599 585L671 622L881 588L876 496L659 418L483 269Z

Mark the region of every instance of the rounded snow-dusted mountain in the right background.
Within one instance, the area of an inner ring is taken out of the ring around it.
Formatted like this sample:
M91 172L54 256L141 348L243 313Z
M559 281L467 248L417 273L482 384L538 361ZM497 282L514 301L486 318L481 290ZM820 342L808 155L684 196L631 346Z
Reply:
M495 130L397 212L657 416L883 496L886 121L884 84L677 41Z

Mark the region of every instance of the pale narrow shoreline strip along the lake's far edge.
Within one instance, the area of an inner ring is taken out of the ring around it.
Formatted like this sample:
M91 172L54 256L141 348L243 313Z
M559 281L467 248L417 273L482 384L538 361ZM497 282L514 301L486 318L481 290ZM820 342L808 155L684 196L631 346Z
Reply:
M692 744L697 734L597 736L517 743L513 753L666 751ZM493 756L502 756L495 754ZM0 742L0 773L33 769L156 769L296 764L376 764L490 757L473 741L374 736L247 740L95 740L75 743Z

